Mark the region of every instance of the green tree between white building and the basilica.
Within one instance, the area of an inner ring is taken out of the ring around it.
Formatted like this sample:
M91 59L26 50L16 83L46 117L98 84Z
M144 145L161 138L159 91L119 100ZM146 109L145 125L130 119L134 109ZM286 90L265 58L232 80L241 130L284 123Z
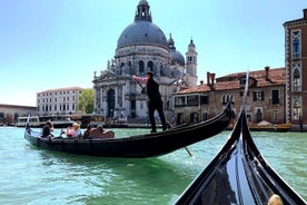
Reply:
M77 109L82 114L92 114L93 110L93 89L83 89L79 96Z

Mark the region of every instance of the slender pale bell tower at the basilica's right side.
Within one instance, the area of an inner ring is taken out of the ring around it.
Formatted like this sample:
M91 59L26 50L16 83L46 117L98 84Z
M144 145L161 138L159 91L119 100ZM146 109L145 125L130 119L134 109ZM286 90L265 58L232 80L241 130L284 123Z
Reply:
M188 51L186 52L186 74L188 78L189 86L197 85L197 51L192 39L188 46Z

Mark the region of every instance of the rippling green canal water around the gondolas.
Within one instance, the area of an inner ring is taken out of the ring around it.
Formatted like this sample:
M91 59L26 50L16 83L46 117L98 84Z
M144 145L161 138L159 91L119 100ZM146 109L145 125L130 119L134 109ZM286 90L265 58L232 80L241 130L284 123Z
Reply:
M117 136L146 129L115 129ZM55 134L60 130L55 130ZM102 158L31 146L23 129L0 127L0 204L172 204L212 159L230 131L145 159ZM251 133L260 153L307 199L307 134Z

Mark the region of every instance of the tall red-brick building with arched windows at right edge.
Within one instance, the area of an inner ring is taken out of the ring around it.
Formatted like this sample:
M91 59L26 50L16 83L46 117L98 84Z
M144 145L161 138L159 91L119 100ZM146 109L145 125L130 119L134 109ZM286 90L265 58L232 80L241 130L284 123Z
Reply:
M285 28L286 119L294 129L307 129L307 9Z

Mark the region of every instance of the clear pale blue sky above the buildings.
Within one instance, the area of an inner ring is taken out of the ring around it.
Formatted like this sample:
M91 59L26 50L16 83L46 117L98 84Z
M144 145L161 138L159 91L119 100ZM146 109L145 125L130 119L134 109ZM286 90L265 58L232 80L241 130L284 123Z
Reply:
M91 88L133 22L139 0L0 0L0 104L36 106L47 89ZM148 0L152 22L184 56L192 38L198 80L285 67L283 23L306 0ZM295 2L295 3L294 3Z

